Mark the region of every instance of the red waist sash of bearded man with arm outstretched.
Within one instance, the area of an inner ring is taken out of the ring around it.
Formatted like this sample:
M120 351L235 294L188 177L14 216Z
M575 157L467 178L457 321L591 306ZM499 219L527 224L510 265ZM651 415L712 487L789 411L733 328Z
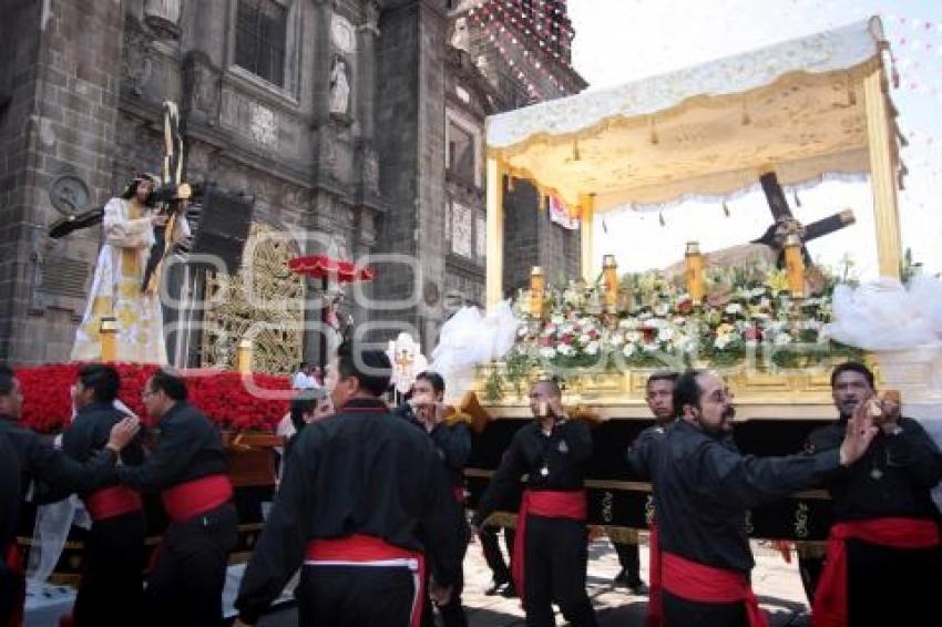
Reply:
M749 627L767 627L749 578L741 573L698 564L666 551L661 552L661 561L663 589L695 603L743 602Z

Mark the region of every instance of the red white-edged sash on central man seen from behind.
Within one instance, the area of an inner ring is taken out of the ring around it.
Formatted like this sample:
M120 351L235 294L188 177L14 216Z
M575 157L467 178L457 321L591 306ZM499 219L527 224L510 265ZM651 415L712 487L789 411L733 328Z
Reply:
M409 624L420 627L426 597L426 557L389 544L371 535L313 539L305 549L305 563L310 566L407 566L412 571L416 594Z

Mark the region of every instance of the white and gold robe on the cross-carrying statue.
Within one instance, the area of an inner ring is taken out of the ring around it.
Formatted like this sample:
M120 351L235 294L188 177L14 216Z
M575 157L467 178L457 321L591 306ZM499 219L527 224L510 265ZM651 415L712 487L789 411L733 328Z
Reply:
M103 244L82 323L75 331L73 361L101 359L101 319L117 320L117 360L136 363L167 362L160 290L141 289L144 268L154 244L153 224L136 201L112 198L104 206ZM173 241L190 236L184 216L174 224Z

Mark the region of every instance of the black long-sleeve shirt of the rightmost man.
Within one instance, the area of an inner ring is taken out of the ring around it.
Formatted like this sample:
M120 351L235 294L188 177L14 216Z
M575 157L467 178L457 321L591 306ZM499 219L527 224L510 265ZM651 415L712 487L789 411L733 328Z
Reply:
M930 491L942 480L942 454L915 420L901 418L899 426L897 435L880 431L860 460L828 481L836 520L939 518ZM809 450L839 449L846 429L842 420L816 429Z

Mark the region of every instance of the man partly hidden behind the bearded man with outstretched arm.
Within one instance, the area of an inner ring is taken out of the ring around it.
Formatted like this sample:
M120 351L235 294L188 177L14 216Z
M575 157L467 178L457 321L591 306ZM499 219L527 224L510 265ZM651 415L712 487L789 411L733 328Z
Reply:
M627 453L628 465L639 479L651 480L651 463L654 459L654 449L661 445L667 429L677 421L677 412L674 411L674 384L676 382L676 372L663 371L655 372L648 377L645 384L645 401L651 413L654 414L654 424L638 433L638 436L628 448ZM661 552L658 548L657 522L652 518L648 523L648 528L651 531L651 539L648 542L651 595L647 602L645 627L661 627L663 625L664 613L661 604Z

